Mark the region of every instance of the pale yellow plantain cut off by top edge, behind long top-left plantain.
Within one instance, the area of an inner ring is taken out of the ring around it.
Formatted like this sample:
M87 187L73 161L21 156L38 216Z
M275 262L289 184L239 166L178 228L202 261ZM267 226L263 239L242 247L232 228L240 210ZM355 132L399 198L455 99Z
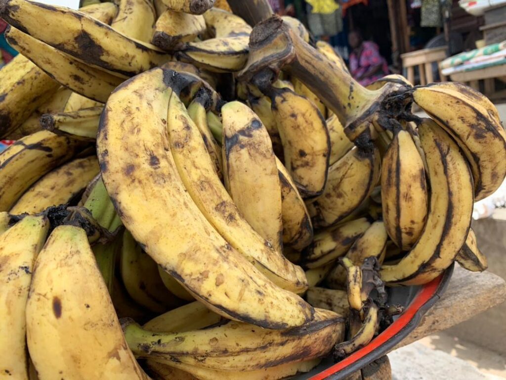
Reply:
M133 40L150 43L156 11L152 0L120 0L111 27Z

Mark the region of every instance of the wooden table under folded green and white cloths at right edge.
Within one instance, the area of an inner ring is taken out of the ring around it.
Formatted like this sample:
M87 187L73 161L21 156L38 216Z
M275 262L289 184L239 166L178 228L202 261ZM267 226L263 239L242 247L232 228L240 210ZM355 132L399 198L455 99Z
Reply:
M479 81L483 80L484 94L487 95L488 98L506 98L506 91L495 92L495 78L506 82L506 64L450 74L450 79L452 81L466 83L478 91L480 91Z

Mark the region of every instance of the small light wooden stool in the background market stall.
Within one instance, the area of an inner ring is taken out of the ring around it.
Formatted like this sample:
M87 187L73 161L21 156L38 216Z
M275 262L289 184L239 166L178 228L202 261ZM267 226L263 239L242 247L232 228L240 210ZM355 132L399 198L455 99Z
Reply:
M434 82L434 75L432 74L432 63L438 63L439 78L445 81L444 75L441 73L439 62L446 58L446 46L432 49L416 50L411 53L401 54L402 67L407 70L407 80L414 83L414 66L418 66L420 72L420 85L426 85Z

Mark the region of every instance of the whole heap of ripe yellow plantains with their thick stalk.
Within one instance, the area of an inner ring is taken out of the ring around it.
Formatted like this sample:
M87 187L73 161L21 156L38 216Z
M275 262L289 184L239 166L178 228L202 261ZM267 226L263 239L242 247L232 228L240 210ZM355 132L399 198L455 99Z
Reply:
M486 270L495 106L364 88L299 21L239 8L0 0L20 53L0 70L0 378L317 373L402 312L390 287Z

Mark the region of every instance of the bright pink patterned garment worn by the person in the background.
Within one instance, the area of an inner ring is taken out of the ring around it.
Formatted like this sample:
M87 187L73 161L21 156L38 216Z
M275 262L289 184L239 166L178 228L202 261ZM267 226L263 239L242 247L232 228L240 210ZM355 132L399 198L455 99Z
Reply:
M385 58L379 54L378 46L372 41L364 41L362 43L362 52L360 57L357 57L355 52L350 54L350 72L353 78L358 78L363 75L370 67L381 64L381 70L376 71L374 75L367 78L362 78L358 82L362 86L367 86L378 79L388 75L388 64Z

